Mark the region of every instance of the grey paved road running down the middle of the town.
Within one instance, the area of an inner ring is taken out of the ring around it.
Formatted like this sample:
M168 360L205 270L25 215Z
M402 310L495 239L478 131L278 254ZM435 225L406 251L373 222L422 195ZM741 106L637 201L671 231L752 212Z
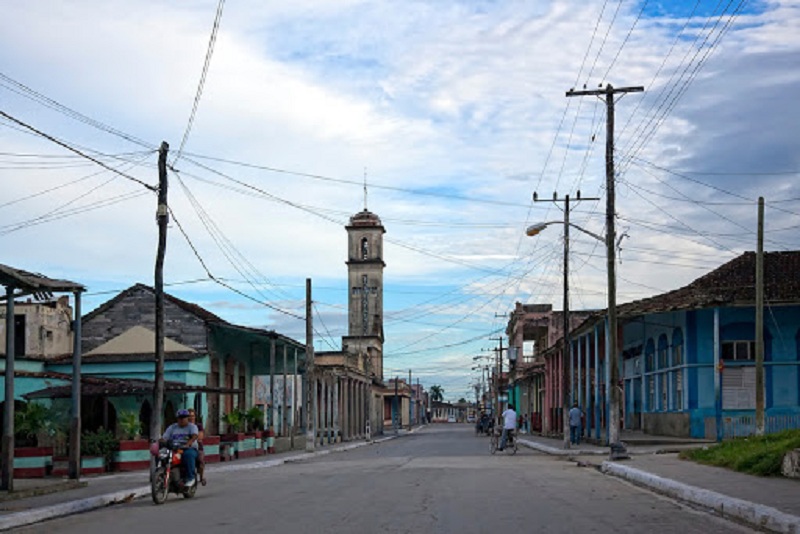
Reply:
M218 475L194 500L141 500L18 532L752 532L592 468L488 449L465 425L434 425L306 462Z

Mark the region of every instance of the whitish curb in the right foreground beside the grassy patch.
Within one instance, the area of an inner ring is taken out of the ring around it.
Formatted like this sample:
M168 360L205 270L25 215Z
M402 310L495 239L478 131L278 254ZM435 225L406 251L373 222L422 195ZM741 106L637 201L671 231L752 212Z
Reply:
M756 504L715 491L690 486L625 465L605 461L600 470L629 482L690 504L698 505L726 519L782 534L800 534L800 517L776 508Z

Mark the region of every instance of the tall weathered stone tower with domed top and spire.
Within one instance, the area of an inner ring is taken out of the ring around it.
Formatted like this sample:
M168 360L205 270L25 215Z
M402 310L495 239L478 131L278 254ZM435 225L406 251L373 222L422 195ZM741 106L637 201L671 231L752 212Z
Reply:
M347 226L350 353L367 353L370 374L383 379L383 234L380 218L364 210Z

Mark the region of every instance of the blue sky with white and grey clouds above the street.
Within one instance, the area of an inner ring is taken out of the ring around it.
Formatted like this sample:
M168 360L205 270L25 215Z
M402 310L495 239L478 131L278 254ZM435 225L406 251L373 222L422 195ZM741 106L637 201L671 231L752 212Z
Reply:
M615 106L618 302L754 250L759 196L766 249L800 248L796 0L229 0L209 55L219 7L3 5L0 263L85 284L85 311L152 284L166 141L169 293L304 340L311 278L338 349L366 201L385 378L471 398L515 302L561 309L562 229L524 230L563 213L533 192L599 197L571 221L605 232L606 106L565 93L609 83L645 88ZM604 308L602 244L569 257L570 307Z

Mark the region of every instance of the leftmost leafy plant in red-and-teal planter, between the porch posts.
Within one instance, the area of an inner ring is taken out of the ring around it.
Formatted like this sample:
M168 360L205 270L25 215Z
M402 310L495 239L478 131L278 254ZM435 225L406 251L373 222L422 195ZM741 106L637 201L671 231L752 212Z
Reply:
M15 411L15 477L43 477L47 474L48 466L52 466L53 447L39 446L39 438L47 429L48 416L47 407L37 402L29 402L23 408ZM19 467L17 467L17 464Z

